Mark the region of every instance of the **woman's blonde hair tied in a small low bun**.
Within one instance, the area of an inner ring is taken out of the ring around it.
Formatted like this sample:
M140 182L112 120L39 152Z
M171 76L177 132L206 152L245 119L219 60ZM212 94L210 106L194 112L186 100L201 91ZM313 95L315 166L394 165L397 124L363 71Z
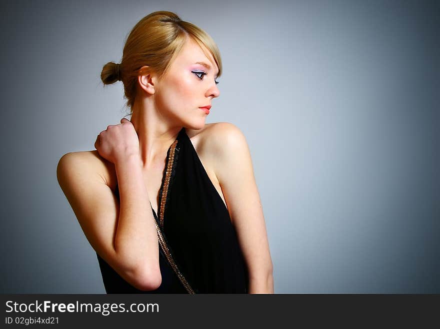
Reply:
M191 38L206 54L203 46L212 55L221 75L220 52L212 38L195 25L182 21L176 14L158 11L142 18L129 33L123 48L120 64L108 62L101 71L104 85L122 81L124 86L125 106L130 108L136 96L137 77L148 70L160 78L164 76L174 57L180 52L187 38Z

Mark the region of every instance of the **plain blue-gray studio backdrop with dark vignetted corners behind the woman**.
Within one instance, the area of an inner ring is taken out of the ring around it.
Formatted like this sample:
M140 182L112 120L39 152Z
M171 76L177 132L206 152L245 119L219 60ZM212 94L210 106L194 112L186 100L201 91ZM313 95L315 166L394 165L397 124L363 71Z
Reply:
M276 293L440 293L438 2L223 0L1 3L0 292L105 292L55 170L126 114L100 70L156 10L220 49Z

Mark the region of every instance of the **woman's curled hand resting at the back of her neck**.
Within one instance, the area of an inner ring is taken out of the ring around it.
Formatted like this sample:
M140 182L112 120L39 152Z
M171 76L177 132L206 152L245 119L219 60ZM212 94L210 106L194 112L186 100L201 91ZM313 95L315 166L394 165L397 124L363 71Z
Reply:
M140 156L139 138L133 124L122 118L120 124L109 125L96 138L94 147L104 159L116 164L131 155Z

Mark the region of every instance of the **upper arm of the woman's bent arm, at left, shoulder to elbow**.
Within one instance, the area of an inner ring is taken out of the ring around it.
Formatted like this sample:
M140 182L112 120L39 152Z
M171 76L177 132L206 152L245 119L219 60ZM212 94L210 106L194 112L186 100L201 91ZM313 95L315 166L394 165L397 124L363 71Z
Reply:
M58 183L97 254L130 284L144 289L137 266L118 258L114 249L119 202L90 158L81 153L61 157L56 168Z

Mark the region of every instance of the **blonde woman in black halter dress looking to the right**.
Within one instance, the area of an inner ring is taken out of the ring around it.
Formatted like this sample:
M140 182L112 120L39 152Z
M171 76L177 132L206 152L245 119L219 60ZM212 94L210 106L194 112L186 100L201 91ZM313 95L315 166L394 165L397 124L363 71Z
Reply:
M245 138L205 124L220 74L213 40L165 11L141 19L121 63L104 65L131 118L100 132L96 151L62 156L57 177L107 293L273 293Z

